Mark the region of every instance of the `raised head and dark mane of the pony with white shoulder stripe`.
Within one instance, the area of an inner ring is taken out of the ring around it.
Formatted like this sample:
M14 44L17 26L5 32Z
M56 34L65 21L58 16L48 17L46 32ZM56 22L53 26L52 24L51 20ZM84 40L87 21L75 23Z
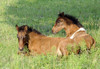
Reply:
M58 14L58 18L56 19L55 25L52 28L52 33L55 34L62 29L68 29L71 24L77 25L78 27L82 27L78 19L68 14L64 15L64 12L62 12Z

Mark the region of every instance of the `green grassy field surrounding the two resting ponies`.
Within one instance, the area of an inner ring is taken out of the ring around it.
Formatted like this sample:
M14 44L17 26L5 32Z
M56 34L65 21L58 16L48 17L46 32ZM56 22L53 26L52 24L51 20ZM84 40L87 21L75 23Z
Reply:
M79 19L96 40L91 54L73 53L68 58L54 55L18 55L15 25L28 25L51 37L65 37L64 30L51 29L59 12ZM100 0L0 0L0 69L100 69Z

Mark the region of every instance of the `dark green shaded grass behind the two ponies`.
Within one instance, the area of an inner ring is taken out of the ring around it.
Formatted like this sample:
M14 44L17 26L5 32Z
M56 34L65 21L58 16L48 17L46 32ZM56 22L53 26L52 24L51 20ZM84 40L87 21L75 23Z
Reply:
M98 1L18 0L18 2L6 7L6 22L13 26L26 24L48 35L52 34L51 29L57 14L62 11L76 16L81 22L89 21L88 19L91 17L94 20L93 24L95 24L99 19L99 15L97 15L99 11ZM99 29L98 25L87 24L85 27Z

